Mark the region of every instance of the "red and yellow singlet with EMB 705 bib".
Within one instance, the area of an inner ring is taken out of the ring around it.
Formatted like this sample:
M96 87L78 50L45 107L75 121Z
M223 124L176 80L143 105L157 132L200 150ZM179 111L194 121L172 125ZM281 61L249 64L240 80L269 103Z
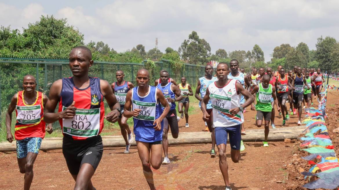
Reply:
M46 123L43 120L43 93L37 92L37 99L32 105L25 104L23 92L18 92L18 101L15 108L17 123L14 136L16 140L27 137L45 137Z

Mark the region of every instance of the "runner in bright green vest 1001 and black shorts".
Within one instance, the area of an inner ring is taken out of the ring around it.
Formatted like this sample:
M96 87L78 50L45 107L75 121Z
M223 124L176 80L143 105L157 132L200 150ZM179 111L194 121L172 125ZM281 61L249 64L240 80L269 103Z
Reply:
M272 70L272 69L271 69ZM270 75L264 75L262 77L262 82L259 83L254 89L251 91L251 94L256 94L257 104L256 104L256 125L257 127L261 127L262 120L265 121L265 139L263 141L263 146L268 147L268 133L270 132L270 120L271 120L271 113L274 110L272 107L271 99L277 105L278 111L280 111L280 107L278 106L278 102L276 99L275 87L270 84L271 77ZM273 104L274 105L274 104Z

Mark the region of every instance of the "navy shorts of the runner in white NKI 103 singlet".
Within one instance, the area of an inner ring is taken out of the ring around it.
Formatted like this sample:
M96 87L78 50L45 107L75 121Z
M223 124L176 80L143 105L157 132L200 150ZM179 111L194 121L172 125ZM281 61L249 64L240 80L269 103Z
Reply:
M216 127L215 128L215 140L217 146L219 144L226 144L227 134L230 138L231 148L234 150L240 149L241 141L241 124L231 127Z

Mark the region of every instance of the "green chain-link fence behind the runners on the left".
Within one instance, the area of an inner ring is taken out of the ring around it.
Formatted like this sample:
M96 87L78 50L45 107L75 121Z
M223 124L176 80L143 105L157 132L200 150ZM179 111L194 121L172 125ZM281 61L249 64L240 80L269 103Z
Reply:
M161 70L167 70L169 75L180 83L180 77L185 76L187 82L195 86L199 77L204 76L204 66L185 64L180 72L173 72L169 62L161 60L155 62L155 79L159 78ZM124 71L125 80L136 83L135 77L139 69L144 67L142 63L100 62L94 61L89 69L89 76L99 77L109 83L116 81L117 70ZM67 59L43 59L43 58L4 58L0 57L0 121L5 126L5 114L8 105L15 93L22 90L22 79L30 74L36 77L36 90L44 92L47 96L52 83L58 79L71 77L72 72ZM151 84L154 85L154 84ZM15 115L15 114L14 114ZM15 124L15 116L12 118ZM55 125L58 125L57 122Z

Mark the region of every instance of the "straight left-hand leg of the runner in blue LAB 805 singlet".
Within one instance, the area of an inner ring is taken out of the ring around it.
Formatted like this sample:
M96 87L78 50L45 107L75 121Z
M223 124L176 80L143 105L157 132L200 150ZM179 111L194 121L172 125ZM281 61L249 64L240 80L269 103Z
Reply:
M146 142L136 141L139 153L139 158L142 163L142 171L150 189L155 189L153 172L151 170L151 163L149 161L149 147L150 144Z

